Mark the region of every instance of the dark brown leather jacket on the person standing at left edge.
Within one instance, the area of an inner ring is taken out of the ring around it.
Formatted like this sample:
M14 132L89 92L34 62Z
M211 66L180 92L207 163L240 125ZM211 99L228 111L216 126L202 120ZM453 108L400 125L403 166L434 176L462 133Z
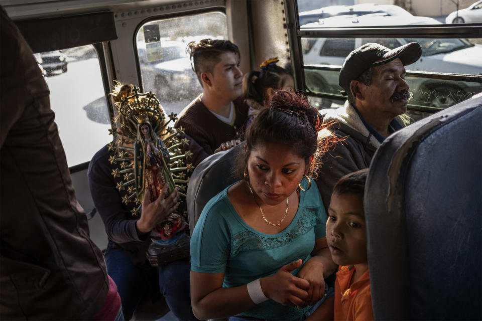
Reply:
M32 50L3 8L0 24L0 319L89 319L109 288L102 253Z

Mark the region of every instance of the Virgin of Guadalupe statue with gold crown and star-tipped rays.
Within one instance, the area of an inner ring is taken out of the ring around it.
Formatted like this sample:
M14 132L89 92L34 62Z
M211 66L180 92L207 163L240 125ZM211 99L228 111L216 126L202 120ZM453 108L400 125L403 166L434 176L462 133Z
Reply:
M166 183L167 195L176 187L185 191L185 173L192 170L185 161L191 153L182 151L188 145L186 138L178 136L182 130L168 125L177 119L176 114L167 116L155 94L140 93L138 87L129 84L119 84L119 88L119 94L123 94L114 100L116 128L111 133L122 135L109 144L109 162L118 164L112 176L119 180L116 188L123 195L123 203L132 205L133 217L139 217L146 189L151 202L159 197ZM153 266L189 256L189 226L183 215L172 213L151 231L146 256Z

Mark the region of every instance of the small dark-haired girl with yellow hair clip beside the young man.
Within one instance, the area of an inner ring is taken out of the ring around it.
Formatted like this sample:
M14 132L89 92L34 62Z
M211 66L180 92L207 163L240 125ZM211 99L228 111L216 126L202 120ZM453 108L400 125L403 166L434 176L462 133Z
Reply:
M243 98L250 106L248 123L264 108L265 103L274 95L275 90L293 90L295 83L291 66L278 66L278 58L264 61L260 71L252 71L243 77Z

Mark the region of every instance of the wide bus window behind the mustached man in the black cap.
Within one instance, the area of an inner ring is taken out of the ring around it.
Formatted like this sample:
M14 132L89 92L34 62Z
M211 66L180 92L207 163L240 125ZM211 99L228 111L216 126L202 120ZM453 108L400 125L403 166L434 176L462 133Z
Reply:
M468 27L454 30L444 24L449 13L444 12L450 6L438 8L438 4L410 1L399 1L398 6L383 2L359 4L344 0L330 1L322 8L318 8L319 3L305 0L297 0L296 4L300 48L299 59L295 57L294 61L302 61L298 67L304 86L301 89L317 108L336 108L344 103L346 97L340 94L338 85L341 65L349 52L369 42L390 49L409 42L421 45L422 57L406 66L412 93L409 114L415 119L482 91L482 63L478 59L482 56L482 39ZM452 29L445 31L447 27Z

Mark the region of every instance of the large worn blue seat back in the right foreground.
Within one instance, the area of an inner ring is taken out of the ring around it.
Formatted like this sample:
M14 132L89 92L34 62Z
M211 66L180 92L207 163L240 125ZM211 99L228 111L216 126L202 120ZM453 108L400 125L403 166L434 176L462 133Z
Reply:
M482 319L482 94L388 137L365 192L377 320Z

